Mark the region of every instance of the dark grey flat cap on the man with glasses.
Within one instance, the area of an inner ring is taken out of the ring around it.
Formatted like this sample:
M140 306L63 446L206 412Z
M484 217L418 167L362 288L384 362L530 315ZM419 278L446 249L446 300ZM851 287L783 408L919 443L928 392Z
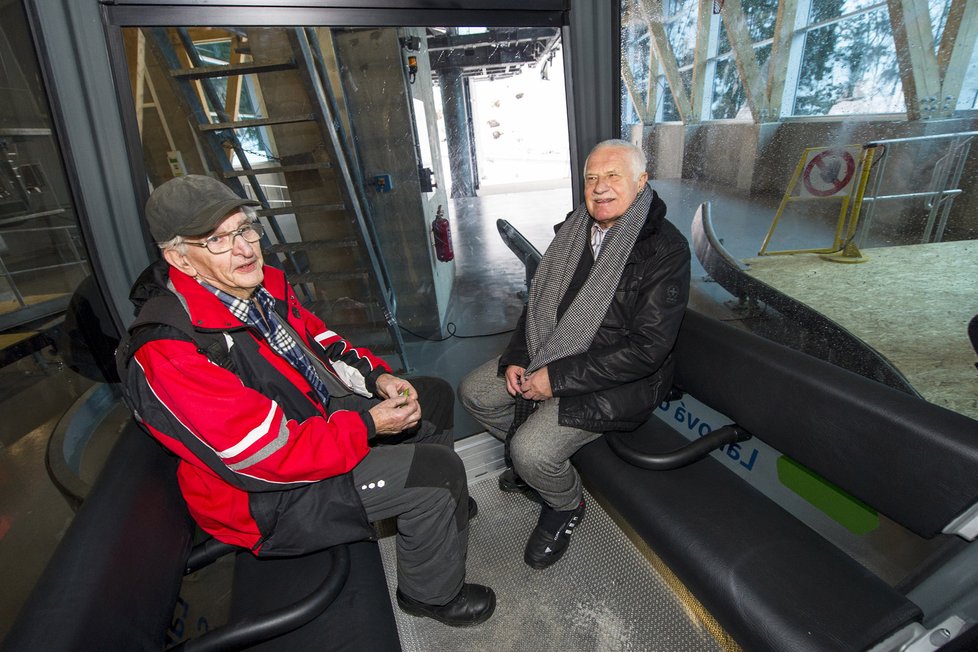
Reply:
M153 191L146 202L146 221L153 239L166 242L178 235L210 233L241 206L261 204L239 197L217 179L188 174L170 179Z

